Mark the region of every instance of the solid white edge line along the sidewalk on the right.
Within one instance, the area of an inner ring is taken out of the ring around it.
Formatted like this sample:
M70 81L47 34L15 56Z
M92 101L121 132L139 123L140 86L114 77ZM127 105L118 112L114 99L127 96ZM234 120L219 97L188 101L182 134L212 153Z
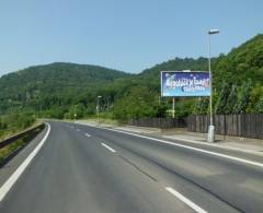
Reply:
M179 146L179 147L184 147L184 149L187 149L187 150L193 150L193 151L196 151L196 152L206 153L206 154L215 155L215 156L218 156L218 157L224 157L224 158L228 158L228 159L232 159L232 161L236 161L236 162L241 162L241 163L244 163L244 164L259 166L259 167L263 168L263 164L259 163L259 162L253 162L253 161L249 161L249 159L244 159L244 158L240 158L240 157L235 157L235 156L230 156L230 155L226 155L226 154L220 154L220 153L217 153L217 152L211 152L211 151L207 151L207 150L203 150L203 149L198 149L198 147L193 147L193 146L190 146L190 145L183 145L183 144L175 143L175 142L164 141L164 140L161 140L161 139L145 137L145 135L140 135L140 134L136 134L136 133L132 133L132 132L126 132L126 131L121 131L121 130L115 130L115 129L108 129L108 128L102 128L102 127L94 127L94 128L98 128L98 129L101 128L101 129L106 129L106 130L110 130L110 131L121 132L121 133L124 133L124 134L139 137L139 138L142 138L142 139L148 139L148 140L152 140L152 141L160 142L160 143L165 143L165 144L170 144L170 145L174 145L174 146Z

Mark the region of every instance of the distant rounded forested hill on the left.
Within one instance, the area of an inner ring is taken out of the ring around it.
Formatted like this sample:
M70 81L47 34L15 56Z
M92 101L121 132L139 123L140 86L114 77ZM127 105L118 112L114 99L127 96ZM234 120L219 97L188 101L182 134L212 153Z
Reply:
M116 79L130 74L99 66L55 62L30 67L0 78L0 111L11 108L47 109L78 103Z

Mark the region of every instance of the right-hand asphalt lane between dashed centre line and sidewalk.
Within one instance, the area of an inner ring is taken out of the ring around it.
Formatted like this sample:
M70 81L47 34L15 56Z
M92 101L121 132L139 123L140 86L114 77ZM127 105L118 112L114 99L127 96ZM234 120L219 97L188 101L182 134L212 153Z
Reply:
M185 180L185 185L194 185L203 189L210 196L213 194L226 204L237 209L240 212L262 212L263 209L263 169L262 167L251 166L232 159L209 155L206 153L195 152L193 150L172 146L159 143L144 138L136 138L130 134L112 132L104 129L79 126L80 129L91 132L91 134L107 140L116 149L122 149L125 156L130 156L133 162L144 167L144 162L150 162L159 168L172 174L169 178L163 173L158 179L165 182L179 182L179 178ZM188 145L188 144L187 144ZM196 147L196 146L194 146ZM198 146L201 149L201 146ZM215 147L203 146L205 151L216 152ZM262 157L218 149L219 154L244 158L247 161ZM139 157L145 161L139 161ZM148 169L149 165L144 169ZM148 169L149 173L152 173ZM158 174L160 169L155 169ZM184 190L183 190L184 191ZM193 189L184 191L188 198L196 200L198 203L206 205L207 202L197 194ZM210 206L210 205L209 205ZM208 206L208 209L209 209ZM209 209L210 210L210 209ZM215 211L211 208L211 211Z

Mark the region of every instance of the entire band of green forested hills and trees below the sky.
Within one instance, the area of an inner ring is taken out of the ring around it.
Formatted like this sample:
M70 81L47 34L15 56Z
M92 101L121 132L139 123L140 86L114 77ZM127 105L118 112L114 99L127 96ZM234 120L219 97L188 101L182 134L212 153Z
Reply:
M171 98L160 99L160 71L207 70L207 59L175 58L139 74L96 66L52 63L0 79L0 114L31 111L42 117L72 118L101 110L114 118L169 116ZM263 113L263 35L228 55L213 58L214 109L217 114ZM176 99L176 116L207 114L208 98Z

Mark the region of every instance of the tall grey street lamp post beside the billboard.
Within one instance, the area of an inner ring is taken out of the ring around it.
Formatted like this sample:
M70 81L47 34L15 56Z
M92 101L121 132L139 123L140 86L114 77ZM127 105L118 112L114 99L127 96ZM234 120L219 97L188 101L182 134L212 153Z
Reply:
M210 108L210 126L208 128L208 142L215 142L215 126L213 120L213 74L211 74L211 66L210 66L210 35L218 34L219 29L210 29L208 31L208 69L209 69L209 76L210 76L210 99L209 99L209 108Z

